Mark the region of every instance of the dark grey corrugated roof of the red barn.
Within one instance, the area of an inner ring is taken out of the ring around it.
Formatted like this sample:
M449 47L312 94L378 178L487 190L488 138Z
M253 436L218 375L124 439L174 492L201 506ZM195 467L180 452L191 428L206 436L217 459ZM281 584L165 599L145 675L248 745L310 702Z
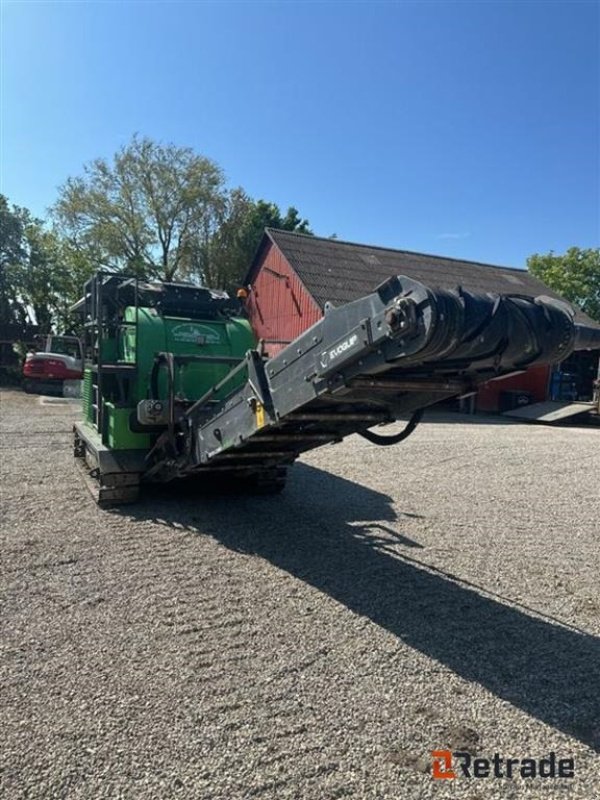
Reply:
M564 300L523 269L372 247L275 228L266 228L247 283L251 282L269 241L283 253L321 308L327 301L341 305L363 297L392 275L406 275L433 288L462 286L479 293L547 295ZM575 316L579 322L597 325L579 309L575 309Z

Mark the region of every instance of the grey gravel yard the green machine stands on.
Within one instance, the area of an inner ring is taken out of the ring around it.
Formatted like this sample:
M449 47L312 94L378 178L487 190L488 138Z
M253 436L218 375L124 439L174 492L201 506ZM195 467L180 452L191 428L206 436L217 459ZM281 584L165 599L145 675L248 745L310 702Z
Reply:
M600 797L600 431L437 417L103 511L76 413L2 394L3 798Z

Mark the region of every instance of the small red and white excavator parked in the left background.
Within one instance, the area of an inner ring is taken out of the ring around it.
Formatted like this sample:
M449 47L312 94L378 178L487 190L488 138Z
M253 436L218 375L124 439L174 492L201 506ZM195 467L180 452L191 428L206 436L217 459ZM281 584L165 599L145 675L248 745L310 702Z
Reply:
M64 382L83 377L81 342L76 336L47 337L41 350L27 353L23 365L26 392L62 394Z

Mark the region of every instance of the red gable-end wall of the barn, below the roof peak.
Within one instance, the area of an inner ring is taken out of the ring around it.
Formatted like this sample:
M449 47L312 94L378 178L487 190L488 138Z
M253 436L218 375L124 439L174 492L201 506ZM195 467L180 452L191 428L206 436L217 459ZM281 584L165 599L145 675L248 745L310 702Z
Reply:
M266 340L269 355L278 353L322 317L281 251L266 247L246 301L250 322L259 339ZM273 341L275 340L275 341Z

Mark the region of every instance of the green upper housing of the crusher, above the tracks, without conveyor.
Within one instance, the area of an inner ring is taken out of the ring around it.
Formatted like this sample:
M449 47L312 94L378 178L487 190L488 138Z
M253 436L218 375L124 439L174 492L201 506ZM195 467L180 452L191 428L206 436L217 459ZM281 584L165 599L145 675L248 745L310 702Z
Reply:
M84 422L110 449L149 449L158 432L138 423L140 401L166 405L172 390L179 403L191 405L222 382L256 340L239 302L223 292L110 278L100 286L102 297L88 303ZM172 378L159 363L166 353ZM215 401L245 380L245 370L238 370L215 392Z

